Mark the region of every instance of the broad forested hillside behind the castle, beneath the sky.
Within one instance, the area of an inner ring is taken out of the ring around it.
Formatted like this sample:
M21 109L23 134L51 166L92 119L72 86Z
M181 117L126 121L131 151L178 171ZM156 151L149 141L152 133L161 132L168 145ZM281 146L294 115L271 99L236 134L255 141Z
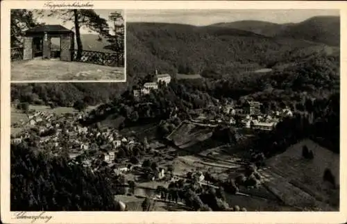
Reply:
M316 20L321 21L320 19ZM254 71L262 67L272 68L301 62L317 54L339 55L337 47L322 44L323 41L320 41L328 38L330 42L339 42L339 36L336 36L339 30L338 23L332 24L327 21L330 28L334 27L337 31L319 30L321 33L317 33L314 40L296 35L307 33L303 32L303 29L305 26L311 26L310 23L313 23L313 28L308 33L314 35L312 33L314 28L318 29L314 24L319 24L316 20L312 18L301 24L288 25L285 29L278 28L280 31L273 37L242 31L237 29L239 26L230 28L232 24L201 27L183 24L128 23L126 40L128 75L153 74L156 67L170 74L202 74L214 71L217 74L230 76L239 71ZM275 26L258 21L254 24L254 26L260 24L260 29L264 26ZM291 27L290 32L289 27ZM251 28L250 30L253 31ZM283 32L290 35L281 34ZM332 36L328 37L328 33Z

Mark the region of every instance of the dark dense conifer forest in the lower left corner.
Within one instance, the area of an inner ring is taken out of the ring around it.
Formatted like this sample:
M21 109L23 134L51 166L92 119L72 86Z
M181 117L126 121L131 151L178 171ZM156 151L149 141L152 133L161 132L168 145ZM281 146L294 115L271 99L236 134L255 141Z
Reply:
M11 146L11 211L117 211L113 183L65 157Z

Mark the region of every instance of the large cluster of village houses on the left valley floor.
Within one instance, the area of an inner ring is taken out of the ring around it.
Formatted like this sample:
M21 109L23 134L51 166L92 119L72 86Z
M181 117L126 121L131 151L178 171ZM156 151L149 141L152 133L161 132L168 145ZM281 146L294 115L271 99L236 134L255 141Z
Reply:
M129 166L116 160L121 146L129 148L141 144L133 137L124 137L119 132L110 128L87 128L78 123L81 114L57 114L49 112L35 112L30 116L29 130L24 130L18 136L11 138L12 144L20 144L25 139L35 137L37 149L49 151L51 155L60 155L62 151L68 152L70 163L80 164L90 168L92 172L101 167L108 166L117 175L141 169L141 164ZM34 122L35 121L35 122ZM31 132L37 128L39 134L47 130L54 130L49 135L38 137ZM30 129L31 128L31 129ZM149 173L147 180L162 180L165 177L165 169L157 168Z

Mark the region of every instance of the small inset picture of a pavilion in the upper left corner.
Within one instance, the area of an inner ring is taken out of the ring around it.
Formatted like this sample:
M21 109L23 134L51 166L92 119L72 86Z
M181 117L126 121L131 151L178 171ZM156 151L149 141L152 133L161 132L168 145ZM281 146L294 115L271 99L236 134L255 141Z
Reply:
M124 30L123 10L12 9L11 81L125 81Z

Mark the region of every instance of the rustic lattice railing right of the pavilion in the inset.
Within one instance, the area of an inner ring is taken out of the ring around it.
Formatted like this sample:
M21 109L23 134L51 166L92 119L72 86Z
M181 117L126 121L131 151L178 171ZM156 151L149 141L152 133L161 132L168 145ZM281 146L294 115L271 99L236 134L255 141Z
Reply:
M101 51L82 51L81 58L77 57L77 50L72 50L72 60L112 67L124 67L124 53L108 53Z

